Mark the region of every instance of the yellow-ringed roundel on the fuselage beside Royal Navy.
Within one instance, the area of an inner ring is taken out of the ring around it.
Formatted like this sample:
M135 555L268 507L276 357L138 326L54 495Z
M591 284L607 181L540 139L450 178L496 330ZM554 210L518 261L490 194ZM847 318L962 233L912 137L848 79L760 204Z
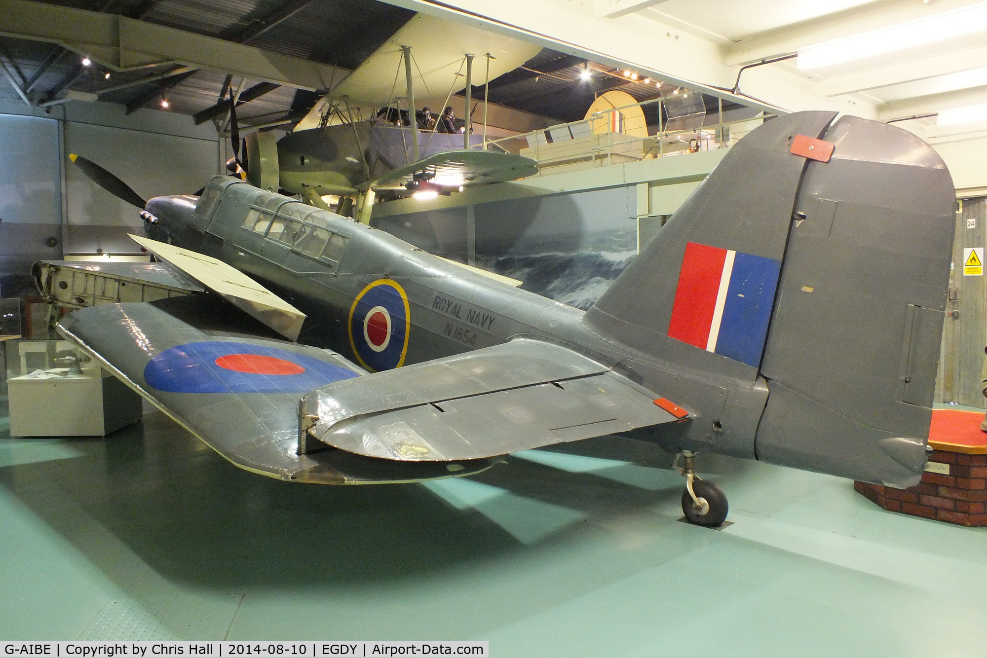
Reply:
M408 295L391 279L363 288L349 309L349 344L360 365L370 370L404 365L410 329Z

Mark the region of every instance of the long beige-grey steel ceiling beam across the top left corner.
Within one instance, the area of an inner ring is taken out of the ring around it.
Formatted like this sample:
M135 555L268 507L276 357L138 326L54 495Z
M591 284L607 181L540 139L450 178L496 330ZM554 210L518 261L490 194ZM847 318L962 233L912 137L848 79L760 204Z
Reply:
M300 57L31 0L4 2L0 36L57 43L117 72L182 64L309 91L325 90L333 78L334 67Z

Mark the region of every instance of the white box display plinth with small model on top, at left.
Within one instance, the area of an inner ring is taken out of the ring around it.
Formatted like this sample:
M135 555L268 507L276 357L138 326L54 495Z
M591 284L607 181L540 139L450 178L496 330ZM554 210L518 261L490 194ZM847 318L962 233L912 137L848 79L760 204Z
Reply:
M71 344L63 340L11 344L7 389L12 437L105 436L140 420L140 396L96 363L24 372L31 360L36 365L55 365L50 362L67 348ZM38 364L38 358L46 363Z

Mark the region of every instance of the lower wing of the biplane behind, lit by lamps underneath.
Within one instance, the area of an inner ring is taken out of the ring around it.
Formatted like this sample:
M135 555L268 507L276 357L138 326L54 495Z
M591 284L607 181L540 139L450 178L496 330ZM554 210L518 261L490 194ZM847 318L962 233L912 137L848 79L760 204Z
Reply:
M529 158L498 151L463 149L435 153L418 162L391 170L363 186L372 189L401 189L405 187L405 183L410 183L422 174L431 175L433 178L429 180L434 183L450 186L505 183L537 172L538 163Z

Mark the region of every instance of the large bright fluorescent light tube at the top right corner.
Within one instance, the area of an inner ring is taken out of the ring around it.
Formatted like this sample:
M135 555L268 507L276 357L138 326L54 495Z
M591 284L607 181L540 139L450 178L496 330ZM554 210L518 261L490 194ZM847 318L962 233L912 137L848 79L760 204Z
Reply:
M987 30L987 2L926 18L810 45L798 51L798 68L819 69Z

